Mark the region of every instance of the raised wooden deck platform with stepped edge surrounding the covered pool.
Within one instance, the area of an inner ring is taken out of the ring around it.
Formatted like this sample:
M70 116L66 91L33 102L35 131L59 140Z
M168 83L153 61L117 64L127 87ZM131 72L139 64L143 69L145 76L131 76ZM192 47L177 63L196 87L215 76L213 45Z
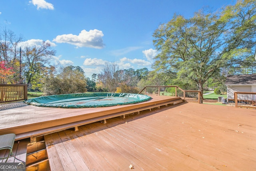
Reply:
M182 102L179 97L152 96L152 99L142 103L77 109L24 106L20 103L16 103L20 104L17 107L8 108L0 104L0 135L15 133L16 140L28 137L35 139L36 136L54 131L178 102Z

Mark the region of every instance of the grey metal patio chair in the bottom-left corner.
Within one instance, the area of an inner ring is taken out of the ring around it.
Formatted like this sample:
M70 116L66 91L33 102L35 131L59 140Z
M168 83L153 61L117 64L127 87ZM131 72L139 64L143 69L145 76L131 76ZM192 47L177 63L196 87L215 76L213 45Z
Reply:
M0 159L6 159L5 162L7 162L10 155L13 155L12 147L15 141L15 137L16 135L14 133L0 135L0 150L9 149L7 157L0 157Z

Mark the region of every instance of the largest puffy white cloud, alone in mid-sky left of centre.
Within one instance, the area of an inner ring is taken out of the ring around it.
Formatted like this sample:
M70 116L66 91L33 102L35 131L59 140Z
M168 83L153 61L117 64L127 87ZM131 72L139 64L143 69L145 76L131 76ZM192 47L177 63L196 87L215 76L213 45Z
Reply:
M90 30L89 32L82 30L78 36L74 34L58 35L53 41L57 43L73 44L77 47L102 49L105 46L103 44L103 36L102 31L97 29Z

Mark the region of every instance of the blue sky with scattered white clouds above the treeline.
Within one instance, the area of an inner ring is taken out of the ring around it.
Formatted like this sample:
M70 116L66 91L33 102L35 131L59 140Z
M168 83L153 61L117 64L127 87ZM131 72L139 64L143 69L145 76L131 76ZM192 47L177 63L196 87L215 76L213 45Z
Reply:
M100 73L106 61L119 69L148 68L157 52L154 30L172 19L186 18L209 6L233 0L1 0L0 28L22 35L20 46L48 41L52 64L80 66L86 77Z

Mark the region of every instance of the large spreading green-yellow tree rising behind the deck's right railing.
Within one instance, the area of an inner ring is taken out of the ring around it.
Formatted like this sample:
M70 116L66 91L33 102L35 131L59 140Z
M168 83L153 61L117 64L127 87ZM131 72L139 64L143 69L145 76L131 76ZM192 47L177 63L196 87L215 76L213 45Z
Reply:
M252 53L255 4L253 0L239 0L221 13L200 10L189 19L174 15L153 34L154 45L160 52L154 69L175 72L179 80L197 85L203 91L204 83L220 73L220 68L242 64L246 59L243 54ZM249 42L250 45L246 44Z

